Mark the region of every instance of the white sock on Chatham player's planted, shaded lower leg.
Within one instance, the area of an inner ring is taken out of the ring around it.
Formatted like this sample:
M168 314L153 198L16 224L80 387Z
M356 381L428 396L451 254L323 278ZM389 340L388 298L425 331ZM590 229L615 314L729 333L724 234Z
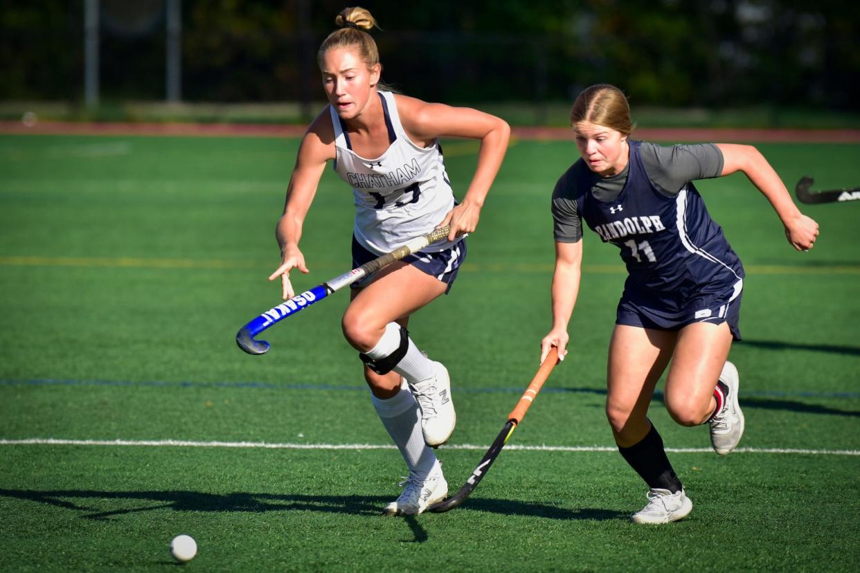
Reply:
M419 478L426 478L431 472L436 472L439 469L439 460L436 459L433 449L424 443L421 411L408 387L403 384L400 392L389 399L380 399L371 394L371 401L382 425L406 461L409 471L415 472Z

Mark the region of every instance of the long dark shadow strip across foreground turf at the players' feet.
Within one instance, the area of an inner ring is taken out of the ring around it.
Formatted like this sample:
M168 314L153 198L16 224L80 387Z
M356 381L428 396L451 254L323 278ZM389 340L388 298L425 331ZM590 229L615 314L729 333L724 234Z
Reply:
M350 515L381 515L380 508L390 502L390 497L362 496L300 496L273 495L265 493L230 493L225 495L198 493L195 491L94 491L94 490L0 490L0 496L28 499L32 502L47 503L58 508L83 512L84 519L107 520L115 515L126 515L154 509L175 509L176 511L322 511L326 513ZM137 507L104 509L105 502L116 501ZM145 502L141 506L139 502ZM99 507L101 506L101 507ZM469 499L463 509L488 511L502 515L525 515L557 520L604 521L626 518L627 514L605 509L563 509L543 503L526 503L508 499ZM462 511L462 509L458 509ZM406 521L415 539L422 543L427 540L427 532L408 516Z

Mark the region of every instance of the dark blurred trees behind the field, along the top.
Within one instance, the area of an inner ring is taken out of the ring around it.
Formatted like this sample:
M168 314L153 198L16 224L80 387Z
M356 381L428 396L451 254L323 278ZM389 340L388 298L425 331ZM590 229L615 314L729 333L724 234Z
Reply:
M322 99L316 48L346 4L184 0L186 101ZM427 100L856 111L860 3L838 0L367 1L384 81ZM0 99L83 98L83 0L3 2ZM102 100L164 97L163 0L101 0Z

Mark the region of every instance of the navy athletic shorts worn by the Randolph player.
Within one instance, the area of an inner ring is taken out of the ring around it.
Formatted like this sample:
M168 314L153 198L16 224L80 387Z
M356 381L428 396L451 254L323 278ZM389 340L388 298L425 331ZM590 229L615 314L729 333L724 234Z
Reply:
M655 330L678 331L694 322L722 324L728 322L728 329L735 340L740 340L740 297L743 279L727 289L716 293L696 296L669 309L666 305L655 304L651 296L636 296L624 290L618 302L615 323L619 325L641 326Z

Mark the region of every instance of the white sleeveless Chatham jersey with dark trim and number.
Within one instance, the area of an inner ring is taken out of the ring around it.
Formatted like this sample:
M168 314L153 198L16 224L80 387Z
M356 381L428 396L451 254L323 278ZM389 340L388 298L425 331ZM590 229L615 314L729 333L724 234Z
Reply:
M435 229L453 209L454 193L439 140L427 148L410 141L400 123L394 94L378 94L390 145L376 158L356 154L346 124L334 107L329 106L329 113L335 128L335 171L353 188L353 233L362 247L384 254ZM433 243L424 251L441 251L459 240Z

